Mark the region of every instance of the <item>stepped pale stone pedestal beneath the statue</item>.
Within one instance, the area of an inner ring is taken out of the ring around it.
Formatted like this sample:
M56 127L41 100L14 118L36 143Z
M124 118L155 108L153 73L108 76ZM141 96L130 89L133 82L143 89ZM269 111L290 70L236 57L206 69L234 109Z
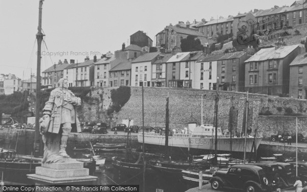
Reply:
M35 181L35 185L48 187L52 185L90 185L97 180L97 177L89 175L88 168L83 168L83 162L75 160L64 163L42 163L40 167L36 167L35 174L27 176Z

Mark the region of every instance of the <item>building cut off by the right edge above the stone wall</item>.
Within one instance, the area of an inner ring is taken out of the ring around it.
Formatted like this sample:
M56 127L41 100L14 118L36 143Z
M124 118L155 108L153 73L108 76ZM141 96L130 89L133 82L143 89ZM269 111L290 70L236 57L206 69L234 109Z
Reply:
M289 96L307 99L307 53L298 55L290 64Z

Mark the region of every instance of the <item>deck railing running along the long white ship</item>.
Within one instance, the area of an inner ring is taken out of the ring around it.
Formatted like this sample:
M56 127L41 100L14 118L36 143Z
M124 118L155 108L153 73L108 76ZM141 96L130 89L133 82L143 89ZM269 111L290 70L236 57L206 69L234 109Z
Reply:
M139 134L143 134L142 131L139 131ZM153 132L145 132L144 135L150 135L150 136L165 136L165 133L153 133ZM192 134L170 134L170 137L190 137L190 138L212 138L215 137L214 133L213 135L192 135ZM247 135L247 138L254 138L255 135ZM226 135L218 135L217 138L230 138L230 134ZM244 134L237 134L232 135L232 138L245 138ZM262 132L257 133L256 138L262 138Z

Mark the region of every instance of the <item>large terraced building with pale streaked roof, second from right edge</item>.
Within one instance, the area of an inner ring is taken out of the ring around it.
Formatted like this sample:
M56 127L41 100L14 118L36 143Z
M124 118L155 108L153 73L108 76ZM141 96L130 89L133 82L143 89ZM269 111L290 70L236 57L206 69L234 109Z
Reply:
M289 93L290 63L299 45L261 49L245 61L245 91L268 95Z

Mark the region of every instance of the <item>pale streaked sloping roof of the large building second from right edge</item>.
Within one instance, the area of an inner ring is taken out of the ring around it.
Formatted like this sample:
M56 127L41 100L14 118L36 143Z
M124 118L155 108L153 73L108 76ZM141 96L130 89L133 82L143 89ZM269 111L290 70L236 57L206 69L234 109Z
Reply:
M267 49L260 49L260 51L255 53L245 62L262 61L262 60L269 60L269 59L281 59L289 55L293 50L295 50L298 47L299 45L293 45L293 46L280 47L277 50L275 50L274 47L267 48Z

